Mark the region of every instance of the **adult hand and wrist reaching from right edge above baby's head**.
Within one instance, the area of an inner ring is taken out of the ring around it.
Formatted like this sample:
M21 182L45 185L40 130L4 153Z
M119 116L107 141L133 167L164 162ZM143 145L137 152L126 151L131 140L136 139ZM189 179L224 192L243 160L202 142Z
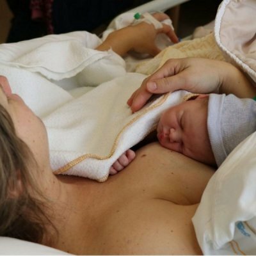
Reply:
M256 89L247 77L230 63L204 58L171 59L147 77L132 93L127 104L132 112L140 110L153 93L188 90L193 93L233 93L255 97Z

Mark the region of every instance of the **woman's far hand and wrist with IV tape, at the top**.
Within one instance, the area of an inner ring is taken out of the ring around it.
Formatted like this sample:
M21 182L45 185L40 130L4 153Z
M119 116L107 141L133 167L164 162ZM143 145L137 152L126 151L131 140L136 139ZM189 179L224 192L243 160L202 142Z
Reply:
M153 16L159 21L169 18L165 13L154 13ZM97 47L97 50L106 51L111 48L120 56L133 50L156 56L160 49L157 48L155 40L160 33L166 34L174 43L179 42L177 35L170 26L163 24L162 28L156 29L153 24L141 22L110 33L106 40Z

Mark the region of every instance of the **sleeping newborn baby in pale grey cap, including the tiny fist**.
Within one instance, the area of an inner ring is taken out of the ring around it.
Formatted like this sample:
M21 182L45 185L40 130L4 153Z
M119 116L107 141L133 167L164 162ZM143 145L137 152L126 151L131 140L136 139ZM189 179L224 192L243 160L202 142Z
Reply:
M191 94L185 102L164 111L157 125L157 139L165 148L220 166L254 131L255 100L239 99L232 94ZM135 153L127 150L113 164L112 172L122 170L134 157Z

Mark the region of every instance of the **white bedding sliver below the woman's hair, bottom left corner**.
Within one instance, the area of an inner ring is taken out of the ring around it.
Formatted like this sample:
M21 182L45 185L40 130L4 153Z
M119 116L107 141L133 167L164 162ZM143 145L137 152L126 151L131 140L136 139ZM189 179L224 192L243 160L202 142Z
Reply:
M0 255L70 255L42 244L0 237Z

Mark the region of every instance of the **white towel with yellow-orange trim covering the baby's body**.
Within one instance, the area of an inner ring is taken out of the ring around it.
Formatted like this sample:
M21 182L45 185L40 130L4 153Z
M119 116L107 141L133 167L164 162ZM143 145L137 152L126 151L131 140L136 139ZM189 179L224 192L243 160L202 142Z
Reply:
M44 118L56 173L106 180L115 160L155 129L161 113L186 95L164 95L132 114L126 101L144 78L132 73L118 77Z

